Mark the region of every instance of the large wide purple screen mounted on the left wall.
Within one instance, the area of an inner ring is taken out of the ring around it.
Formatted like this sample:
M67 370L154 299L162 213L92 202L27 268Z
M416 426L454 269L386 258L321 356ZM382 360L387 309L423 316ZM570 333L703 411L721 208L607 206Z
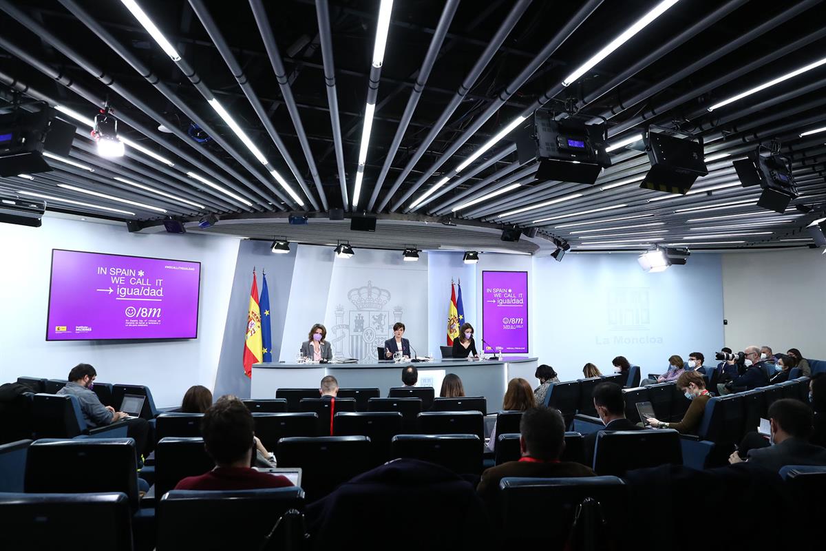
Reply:
M196 339L201 263L52 249L46 340Z

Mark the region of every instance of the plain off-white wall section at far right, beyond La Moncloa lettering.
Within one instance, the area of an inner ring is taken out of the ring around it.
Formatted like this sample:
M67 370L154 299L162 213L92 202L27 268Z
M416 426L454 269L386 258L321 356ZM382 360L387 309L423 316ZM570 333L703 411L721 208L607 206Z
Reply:
M820 249L723 255L725 343L826 359L826 256ZM693 258L693 257L692 257Z

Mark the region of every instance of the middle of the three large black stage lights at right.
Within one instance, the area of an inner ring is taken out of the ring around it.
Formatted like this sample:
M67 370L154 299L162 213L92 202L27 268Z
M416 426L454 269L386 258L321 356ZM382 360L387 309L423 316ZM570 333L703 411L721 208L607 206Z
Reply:
M685 195L697 178L709 173L701 136L649 126L643 133L643 144L651 169L640 188Z

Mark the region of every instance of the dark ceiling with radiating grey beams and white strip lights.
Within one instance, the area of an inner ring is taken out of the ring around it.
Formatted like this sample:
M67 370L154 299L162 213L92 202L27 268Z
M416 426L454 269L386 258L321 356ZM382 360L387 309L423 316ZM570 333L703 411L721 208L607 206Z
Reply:
M78 126L71 163L0 178L49 210L214 213L211 232L265 239L343 208L409 245L442 222L536 227L581 251L808 246L826 216L819 0L0 0L0 28L0 111L45 102ZM120 158L89 134L105 102ZM537 109L606 122L596 184L520 164L513 131ZM639 188L648 157L622 144L648 125L702 136L709 174L685 196ZM800 197L782 214L734 173L761 143L792 159Z

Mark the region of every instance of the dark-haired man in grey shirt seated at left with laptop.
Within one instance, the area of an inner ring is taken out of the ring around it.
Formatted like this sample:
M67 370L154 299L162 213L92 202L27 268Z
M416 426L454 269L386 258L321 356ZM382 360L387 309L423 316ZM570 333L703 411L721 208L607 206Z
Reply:
M90 427L111 425L117 421L126 422L126 435L135 439L135 454L138 463L142 465L142 455L149 455L150 451L150 424L145 419L129 418L129 414L124 411L115 411L112 406L104 406L97 394L92 390L94 381L97 378L97 371L88 363L78 363L69 371L69 378L66 386L57 393L60 396L69 395L78 399L80 413L83 420Z

